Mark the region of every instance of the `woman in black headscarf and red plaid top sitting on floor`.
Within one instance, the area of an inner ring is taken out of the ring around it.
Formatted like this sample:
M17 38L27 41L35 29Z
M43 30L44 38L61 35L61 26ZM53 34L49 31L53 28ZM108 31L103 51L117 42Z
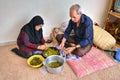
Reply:
M40 54L40 51L46 49L47 45L42 30L43 24L43 19L40 16L35 16L22 27L17 38L19 55L28 58L31 55Z

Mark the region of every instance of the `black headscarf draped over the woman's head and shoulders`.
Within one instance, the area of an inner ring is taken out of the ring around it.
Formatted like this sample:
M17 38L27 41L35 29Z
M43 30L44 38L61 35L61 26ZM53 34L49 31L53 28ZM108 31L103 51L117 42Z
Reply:
M31 43L39 44L43 38L42 28L39 31L35 30L35 26L40 24L44 24L43 19L40 16L35 16L21 29L28 34Z

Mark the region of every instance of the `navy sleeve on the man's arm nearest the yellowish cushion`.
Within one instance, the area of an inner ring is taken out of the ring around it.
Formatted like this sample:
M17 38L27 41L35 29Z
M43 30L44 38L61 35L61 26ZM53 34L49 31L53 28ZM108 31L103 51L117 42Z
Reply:
M85 30L85 37L79 42L81 47L85 47L88 44L93 43L93 22L91 20L87 21Z

